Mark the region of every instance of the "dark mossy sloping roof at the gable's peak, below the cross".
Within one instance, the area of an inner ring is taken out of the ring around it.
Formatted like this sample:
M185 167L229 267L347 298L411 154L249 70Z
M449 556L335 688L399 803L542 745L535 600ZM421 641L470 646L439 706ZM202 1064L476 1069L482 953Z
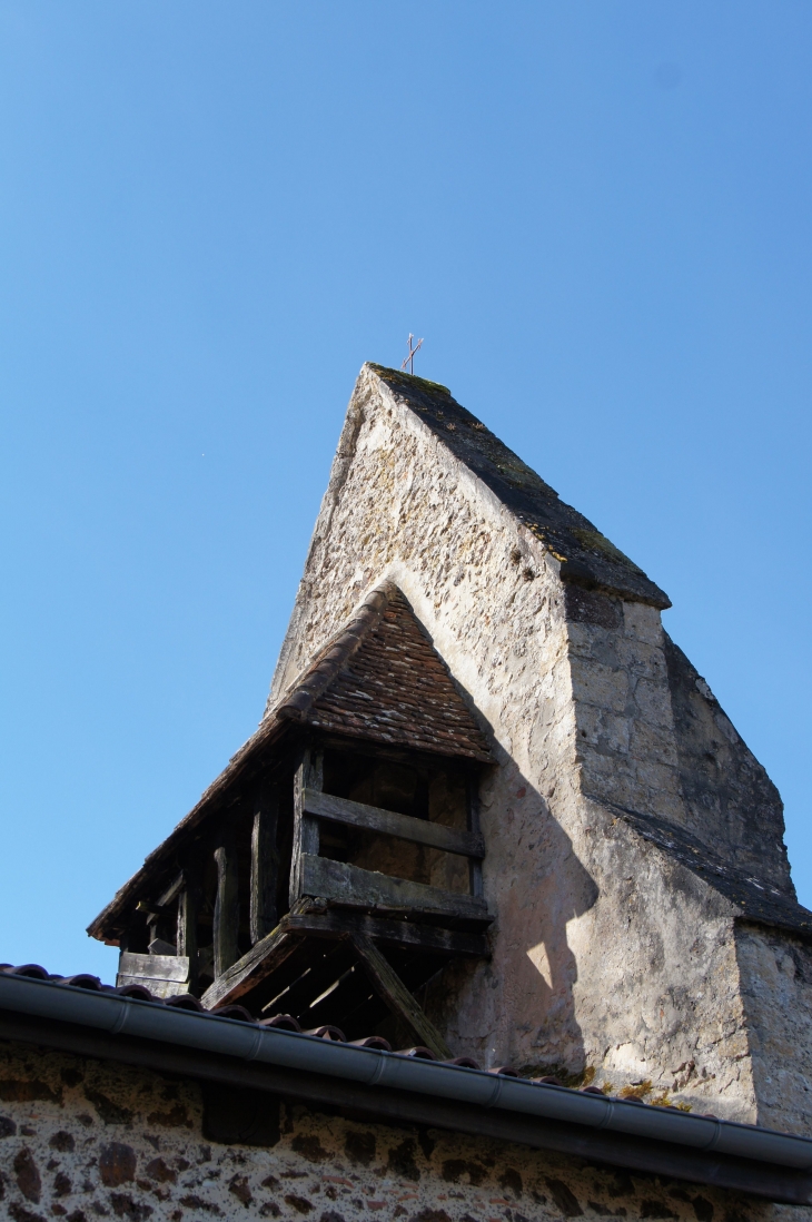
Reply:
M366 368L546 545L560 561L564 580L598 587L661 609L670 606L668 595L642 568L589 518L562 501L549 484L462 407L446 386L383 365Z

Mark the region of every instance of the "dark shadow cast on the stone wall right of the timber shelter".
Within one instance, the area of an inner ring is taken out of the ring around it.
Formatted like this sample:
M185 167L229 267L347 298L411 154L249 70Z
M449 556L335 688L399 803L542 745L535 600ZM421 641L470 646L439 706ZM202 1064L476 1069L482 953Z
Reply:
M452 1046L465 1045L487 1064L509 1062L524 1075L585 1083L578 964L567 926L592 908L597 884L513 761L482 786L481 826L485 895L496 918L492 959L451 964L431 982L425 1003Z

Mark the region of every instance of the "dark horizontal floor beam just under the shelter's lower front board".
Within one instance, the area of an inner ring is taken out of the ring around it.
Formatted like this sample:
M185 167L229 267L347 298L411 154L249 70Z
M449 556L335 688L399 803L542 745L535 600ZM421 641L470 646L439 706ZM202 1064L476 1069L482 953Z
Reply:
M365 913L331 908L328 912L288 913L280 921L291 934L313 937L346 937L363 934L387 946L404 946L426 951L430 954L463 956L473 959L490 958L484 934L468 934L440 929L437 925L418 925L404 920L387 920Z

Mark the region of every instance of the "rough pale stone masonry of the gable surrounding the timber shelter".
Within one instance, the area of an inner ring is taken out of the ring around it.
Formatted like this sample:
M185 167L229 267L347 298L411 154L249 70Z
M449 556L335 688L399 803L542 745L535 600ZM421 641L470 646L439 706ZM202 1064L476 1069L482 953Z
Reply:
M471 463L459 435L473 418L451 419L425 386L361 370L271 701L393 580L498 760L481 792L493 958L452 965L427 1001L454 1052L755 1121L785 1019L746 1009L759 965L736 919L774 910L740 891L774 892L789 927L810 918L792 899L778 796L665 638L664 596L635 589L619 552L614 576L585 574L584 556L573 568L565 540ZM794 987L792 1039L808 1048L810 986ZM810 1132L797 1091L770 1114Z

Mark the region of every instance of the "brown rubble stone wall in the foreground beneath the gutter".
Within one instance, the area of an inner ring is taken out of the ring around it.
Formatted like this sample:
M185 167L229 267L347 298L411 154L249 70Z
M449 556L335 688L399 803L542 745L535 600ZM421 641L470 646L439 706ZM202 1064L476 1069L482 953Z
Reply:
M206 1136L194 1083L0 1044L0 1215L13 1222L759 1222L786 1210L438 1129L282 1105L266 1147ZM278 1124L278 1127L276 1127Z

